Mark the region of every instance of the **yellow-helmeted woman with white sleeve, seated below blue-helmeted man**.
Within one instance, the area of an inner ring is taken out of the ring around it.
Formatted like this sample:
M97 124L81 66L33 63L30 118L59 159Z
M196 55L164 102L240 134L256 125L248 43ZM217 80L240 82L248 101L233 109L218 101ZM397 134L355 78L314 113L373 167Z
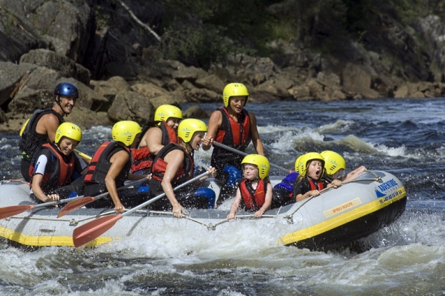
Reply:
M33 200L52 202L68 198L71 188L74 189L68 184L86 173L86 163L74 152L81 140L79 126L64 122L56 129L54 142L42 145L29 169Z

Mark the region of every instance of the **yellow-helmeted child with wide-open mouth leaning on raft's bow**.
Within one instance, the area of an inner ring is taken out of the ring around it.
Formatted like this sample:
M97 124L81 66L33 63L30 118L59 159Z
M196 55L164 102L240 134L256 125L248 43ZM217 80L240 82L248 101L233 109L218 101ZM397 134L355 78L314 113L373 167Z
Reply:
M322 179L324 173L324 158L317 152L309 152L301 156L299 161L299 177L294 184L294 200L299 202L310 196L320 195L320 191L329 186L337 188L342 184L334 179L328 183Z

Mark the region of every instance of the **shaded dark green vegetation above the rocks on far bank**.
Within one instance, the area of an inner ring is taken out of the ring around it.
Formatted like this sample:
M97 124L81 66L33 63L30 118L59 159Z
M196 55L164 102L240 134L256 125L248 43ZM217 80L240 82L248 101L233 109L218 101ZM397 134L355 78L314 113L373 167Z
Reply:
M278 38L329 54L342 52L349 40L372 49L368 35L382 14L405 27L422 15L445 18L440 0L164 0L162 5L160 50L168 59L203 68L225 61L227 54L279 52L268 46Z

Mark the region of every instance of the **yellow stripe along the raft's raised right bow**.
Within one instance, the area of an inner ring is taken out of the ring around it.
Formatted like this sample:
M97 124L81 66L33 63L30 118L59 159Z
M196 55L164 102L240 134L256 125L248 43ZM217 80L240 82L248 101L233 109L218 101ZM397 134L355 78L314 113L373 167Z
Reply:
M405 198L407 196L407 192L405 191L405 186L398 188L398 191L400 191L400 193L394 198L391 198L389 200L385 200L385 197L379 198L361 207L352 209L349 212L346 212L345 214L340 214L332 219L326 220L322 223L318 223L317 225L313 225L311 227L296 232L288 233L284 237L278 239L278 244L285 244L285 245L293 244L303 239L315 237L326 231L344 225L348 222L354 221L373 212L377 212L379 209L383 209L384 207L391 205L391 203L401 200L402 198Z

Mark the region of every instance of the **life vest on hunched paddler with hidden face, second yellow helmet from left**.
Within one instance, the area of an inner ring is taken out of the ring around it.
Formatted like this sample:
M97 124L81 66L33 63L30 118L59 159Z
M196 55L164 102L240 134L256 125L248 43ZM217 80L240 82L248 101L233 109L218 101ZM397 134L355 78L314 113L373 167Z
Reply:
M112 165L112 163L110 163L110 158L119 151L126 151L129 156L127 163L116 179L114 179L116 187L123 186L123 183L126 181L130 172L131 154L130 149L119 142L105 142L100 145L96 152L94 152L93 158L91 158L91 163L88 166L84 182L105 184L105 177L107 177L108 170L110 170Z

